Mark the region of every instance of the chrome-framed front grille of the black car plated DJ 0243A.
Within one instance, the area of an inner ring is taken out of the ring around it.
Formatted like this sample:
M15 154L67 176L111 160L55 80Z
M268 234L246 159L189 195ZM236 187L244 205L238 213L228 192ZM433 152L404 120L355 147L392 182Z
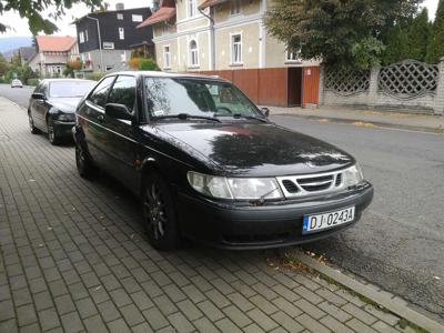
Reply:
M278 181L286 198L309 196L339 191L343 188L343 173L279 176Z

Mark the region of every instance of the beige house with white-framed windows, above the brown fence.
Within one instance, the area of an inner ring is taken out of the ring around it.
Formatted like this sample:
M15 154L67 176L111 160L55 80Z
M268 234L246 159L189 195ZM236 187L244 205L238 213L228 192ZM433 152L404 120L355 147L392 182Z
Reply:
M266 32L268 0L163 0L153 26L158 64L171 71L317 65Z

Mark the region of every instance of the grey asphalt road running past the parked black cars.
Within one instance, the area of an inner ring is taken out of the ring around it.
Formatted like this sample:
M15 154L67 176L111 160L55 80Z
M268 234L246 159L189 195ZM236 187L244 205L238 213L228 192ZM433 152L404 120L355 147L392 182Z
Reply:
M0 84L0 95L24 108L31 91ZM349 151L375 186L360 223L305 249L444 319L444 135L272 120Z

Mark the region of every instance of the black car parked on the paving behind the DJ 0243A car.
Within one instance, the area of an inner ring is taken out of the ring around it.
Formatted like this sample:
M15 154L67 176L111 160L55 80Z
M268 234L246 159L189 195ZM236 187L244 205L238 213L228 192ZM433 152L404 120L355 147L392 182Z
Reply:
M58 144L63 138L71 138L71 129L75 124L75 108L95 83L79 79L42 80L29 100L31 133L48 133L52 144Z

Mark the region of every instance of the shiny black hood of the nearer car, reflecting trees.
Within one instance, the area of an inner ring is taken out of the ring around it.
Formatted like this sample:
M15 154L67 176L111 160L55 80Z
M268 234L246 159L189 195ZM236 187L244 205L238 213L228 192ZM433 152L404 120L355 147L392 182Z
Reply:
M176 147L206 158L226 174L285 175L332 171L355 160L312 137L273 123L170 123L158 129Z

